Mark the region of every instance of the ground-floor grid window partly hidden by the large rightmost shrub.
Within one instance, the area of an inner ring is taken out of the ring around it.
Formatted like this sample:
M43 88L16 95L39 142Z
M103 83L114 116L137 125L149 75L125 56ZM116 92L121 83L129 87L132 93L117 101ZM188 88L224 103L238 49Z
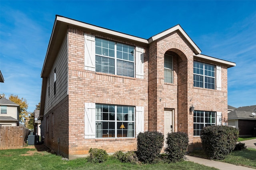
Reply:
M194 111L194 136L199 136L203 127L216 125L216 112Z

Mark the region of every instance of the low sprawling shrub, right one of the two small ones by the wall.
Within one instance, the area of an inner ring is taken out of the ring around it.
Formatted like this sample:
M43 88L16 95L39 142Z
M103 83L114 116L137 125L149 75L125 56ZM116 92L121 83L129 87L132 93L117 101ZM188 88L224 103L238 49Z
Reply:
M138 157L134 151L128 151L123 153L122 151L117 151L113 155L115 158L120 160L121 162L130 162L132 164L138 164Z

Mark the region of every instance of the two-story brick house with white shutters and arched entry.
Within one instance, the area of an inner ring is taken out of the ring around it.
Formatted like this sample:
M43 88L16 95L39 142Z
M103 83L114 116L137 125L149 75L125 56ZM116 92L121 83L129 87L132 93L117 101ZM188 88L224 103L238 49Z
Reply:
M227 69L200 54L180 25L149 39L56 16L42 68L44 144L76 158L136 149L144 131L227 125Z

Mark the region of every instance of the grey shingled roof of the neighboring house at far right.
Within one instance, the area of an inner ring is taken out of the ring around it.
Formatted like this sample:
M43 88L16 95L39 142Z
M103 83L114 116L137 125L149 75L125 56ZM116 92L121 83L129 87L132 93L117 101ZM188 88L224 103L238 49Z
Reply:
M238 107L233 111L228 113L228 119L254 119L256 120L256 116L253 117L252 113L256 113L256 105L254 106L244 106Z

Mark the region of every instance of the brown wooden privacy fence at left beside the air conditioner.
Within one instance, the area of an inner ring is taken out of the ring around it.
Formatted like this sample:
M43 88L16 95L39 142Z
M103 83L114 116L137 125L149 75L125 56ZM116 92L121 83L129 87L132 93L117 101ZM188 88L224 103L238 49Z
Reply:
M0 150L23 147L29 133L29 129L22 126L0 126Z

